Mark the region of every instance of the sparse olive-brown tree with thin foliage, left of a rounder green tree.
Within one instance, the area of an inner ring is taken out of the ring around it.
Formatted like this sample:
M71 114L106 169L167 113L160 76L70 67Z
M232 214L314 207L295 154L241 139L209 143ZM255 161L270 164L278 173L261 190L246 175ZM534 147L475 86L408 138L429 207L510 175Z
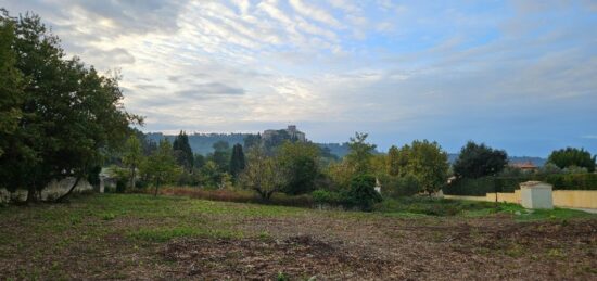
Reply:
M254 146L249 153L249 163L241 175L241 184L255 191L263 200L269 201L271 195L284 186L284 175L279 163L267 156L264 148Z

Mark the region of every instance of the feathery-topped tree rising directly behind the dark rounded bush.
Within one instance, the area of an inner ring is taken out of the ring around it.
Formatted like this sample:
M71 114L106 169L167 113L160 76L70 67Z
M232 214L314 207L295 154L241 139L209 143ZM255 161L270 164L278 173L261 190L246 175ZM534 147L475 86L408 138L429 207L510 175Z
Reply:
M355 137L348 142L350 152L346 161L355 174L367 174L371 170L371 157L376 144L367 143L367 133L355 132Z

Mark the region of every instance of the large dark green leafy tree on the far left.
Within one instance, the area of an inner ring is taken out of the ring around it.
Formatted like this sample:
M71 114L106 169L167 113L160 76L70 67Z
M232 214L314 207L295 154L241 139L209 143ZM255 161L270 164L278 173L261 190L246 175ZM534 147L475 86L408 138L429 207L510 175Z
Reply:
M2 21L13 31L0 41L12 38L14 65L24 78L16 129L3 139L0 186L25 188L33 201L52 179L75 177L63 200L106 152L124 144L129 124L140 118L124 110L119 77L102 76L78 58L66 59L39 16L15 18L4 12Z

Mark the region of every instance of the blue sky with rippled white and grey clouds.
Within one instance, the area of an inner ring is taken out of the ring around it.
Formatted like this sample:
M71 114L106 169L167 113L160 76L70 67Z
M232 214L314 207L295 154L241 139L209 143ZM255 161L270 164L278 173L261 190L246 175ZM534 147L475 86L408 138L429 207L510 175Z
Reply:
M0 0L119 71L144 131L597 153L597 1Z

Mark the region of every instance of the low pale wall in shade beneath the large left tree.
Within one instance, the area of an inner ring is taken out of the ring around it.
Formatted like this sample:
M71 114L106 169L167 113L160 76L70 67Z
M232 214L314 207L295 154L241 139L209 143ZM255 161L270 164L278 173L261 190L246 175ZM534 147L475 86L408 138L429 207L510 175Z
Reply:
M60 195L66 193L68 189L73 187L75 183L75 178L65 178L60 181L53 180L41 191L41 200L53 200L59 197ZM86 192L93 190L93 187L87 182L87 180L81 179L77 183L77 187L75 187L75 190L73 192ZM16 190L15 192L9 192L7 189L0 189L0 203L8 203L11 201L16 202L23 202L27 200L27 191L26 190Z

